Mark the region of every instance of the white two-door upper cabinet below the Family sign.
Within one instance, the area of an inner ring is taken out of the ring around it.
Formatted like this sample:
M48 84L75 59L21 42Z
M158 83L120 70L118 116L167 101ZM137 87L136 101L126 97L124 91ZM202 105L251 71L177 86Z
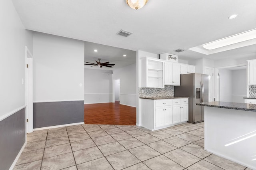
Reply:
M164 84L180 85L180 64L164 62Z

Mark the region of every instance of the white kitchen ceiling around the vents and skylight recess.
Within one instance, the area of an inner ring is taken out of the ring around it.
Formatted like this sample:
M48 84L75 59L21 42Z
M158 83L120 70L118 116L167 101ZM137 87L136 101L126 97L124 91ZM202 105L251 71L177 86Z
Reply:
M173 53L185 60L256 56L255 44L211 55L188 50L255 29L256 0L149 0L137 11L125 0L12 2L28 30L133 51ZM238 17L228 19L232 14ZM121 29L133 34L116 35ZM186 51L174 52L178 48Z

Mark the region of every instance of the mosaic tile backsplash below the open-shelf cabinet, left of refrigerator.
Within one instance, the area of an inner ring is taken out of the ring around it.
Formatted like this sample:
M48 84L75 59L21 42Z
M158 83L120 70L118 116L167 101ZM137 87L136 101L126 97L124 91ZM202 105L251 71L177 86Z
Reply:
M144 93L142 93L142 90ZM139 97L174 96L174 86L165 85L164 88L139 88Z

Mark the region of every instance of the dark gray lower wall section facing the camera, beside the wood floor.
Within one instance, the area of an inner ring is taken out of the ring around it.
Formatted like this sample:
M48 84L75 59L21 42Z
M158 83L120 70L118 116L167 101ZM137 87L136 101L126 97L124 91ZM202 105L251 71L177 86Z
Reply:
M33 104L34 128L84 122L84 101Z

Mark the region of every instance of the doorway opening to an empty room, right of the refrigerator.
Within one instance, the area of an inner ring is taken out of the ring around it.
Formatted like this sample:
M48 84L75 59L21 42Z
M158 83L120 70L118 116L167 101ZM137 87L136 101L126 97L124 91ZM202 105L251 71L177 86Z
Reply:
M216 68L216 101L244 103L246 69L246 64Z

